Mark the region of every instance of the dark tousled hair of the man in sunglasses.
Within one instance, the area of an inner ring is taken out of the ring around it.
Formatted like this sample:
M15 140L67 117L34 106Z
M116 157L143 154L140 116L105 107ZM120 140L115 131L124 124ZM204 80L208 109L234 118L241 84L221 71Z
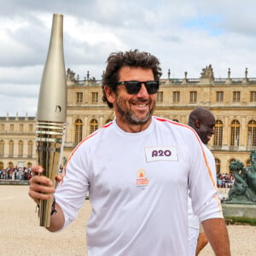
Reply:
M108 85L113 91L116 91L121 67L151 68L154 74L154 80L156 81L160 80L162 74L160 61L154 55L150 55L147 52L140 52L138 49L112 53L108 56L107 63L106 71L102 75L102 100L108 103L109 108L113 108L113 104L108 102L104 86Z

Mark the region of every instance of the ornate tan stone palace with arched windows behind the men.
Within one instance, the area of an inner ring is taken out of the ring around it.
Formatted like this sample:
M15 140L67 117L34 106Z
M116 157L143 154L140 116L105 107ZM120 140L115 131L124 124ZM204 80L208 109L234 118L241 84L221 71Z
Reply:
M250 151L256 149L256 79L247 78L247 69L241 79L230 78L230 69L227 78L215 79L211 65L202 69L199 79L188 79L186 72L183 79L171 79L170 76L169 71L167 79L160 80L154 114L187 124L193 109L200 106L208 108L216 119L215 135L209 148L215 157L217 172L229 173L230 161L234 159L241 160L245 166L250 165ZM63 164L82 139L113 118L113 110L102 102L101 80L90 79L89 73L84 80L80 80L79 76L75 78L75 73L67 69L67 136ZM26 118L24 127L25 122ZM34 119L32 122L35 125ZM8 129L12 124L10 118L2 118L0 123ZM17 122L17 125L20 127L21 123ZM6 167L7 163L18 160L19 154L19 132L10 133L9 138L3 139L3 136L1 129L0 167L1 162ZM8 148L10 140L15 136L17 149L13 159L9 158ZM23 143L28 145L25 138ZM35 158L27 160L32 164L34 161Z

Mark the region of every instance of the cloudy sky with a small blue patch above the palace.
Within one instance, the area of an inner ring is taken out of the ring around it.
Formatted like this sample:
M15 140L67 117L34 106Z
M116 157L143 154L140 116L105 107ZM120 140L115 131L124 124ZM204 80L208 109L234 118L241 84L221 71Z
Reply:
M140 49L163 76L256 78L256 3L251 0L8 0L0 3L0 116L34 116L52 15L64 15L66 68L101 79L109 53Z

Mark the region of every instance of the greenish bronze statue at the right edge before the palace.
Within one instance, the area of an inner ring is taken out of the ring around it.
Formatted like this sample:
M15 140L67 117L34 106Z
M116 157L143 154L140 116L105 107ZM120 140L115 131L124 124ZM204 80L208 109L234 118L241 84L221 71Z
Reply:
M230 162L230 172L235 182L229 191L227 202L256 203L256 150L251 152L252 166L243 167L240 160Z

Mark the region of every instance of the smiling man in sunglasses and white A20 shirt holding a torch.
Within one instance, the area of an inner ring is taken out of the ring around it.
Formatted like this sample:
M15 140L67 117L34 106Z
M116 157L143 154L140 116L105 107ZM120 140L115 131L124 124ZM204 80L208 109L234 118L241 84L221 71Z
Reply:
M160 62L147 52L109 55L102 92L115 119L73 150L56 190L37 175L41 166L32 169L32 199L38 204L54 196L49 231L66 228L89 191L89 256L187 256L188 191L213 251L230 255L200 139L188 125L153 116L160 75Z

